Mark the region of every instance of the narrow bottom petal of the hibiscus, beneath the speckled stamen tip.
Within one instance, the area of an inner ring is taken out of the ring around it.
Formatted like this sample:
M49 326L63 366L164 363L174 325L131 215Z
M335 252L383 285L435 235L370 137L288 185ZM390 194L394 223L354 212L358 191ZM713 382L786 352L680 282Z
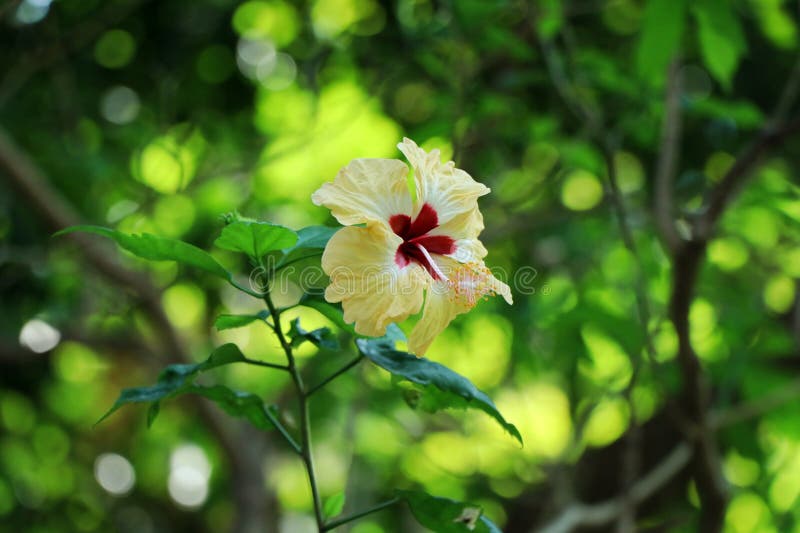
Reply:
M482 298L499 294L513 303L511 289L495 278L483 262L461 264L447 257L439 257L436 262L447 280L429 285L422 317L408 338L409 350L419 356L456 316L472 309Z

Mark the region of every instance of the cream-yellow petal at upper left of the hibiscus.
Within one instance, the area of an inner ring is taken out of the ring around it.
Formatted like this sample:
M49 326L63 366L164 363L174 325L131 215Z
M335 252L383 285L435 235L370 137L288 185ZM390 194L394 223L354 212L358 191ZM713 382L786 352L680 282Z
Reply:
M392 215L411 214L407 175L408 167L398 159L354 159L311 201L330 209L344 226L382 222L388 227Z

